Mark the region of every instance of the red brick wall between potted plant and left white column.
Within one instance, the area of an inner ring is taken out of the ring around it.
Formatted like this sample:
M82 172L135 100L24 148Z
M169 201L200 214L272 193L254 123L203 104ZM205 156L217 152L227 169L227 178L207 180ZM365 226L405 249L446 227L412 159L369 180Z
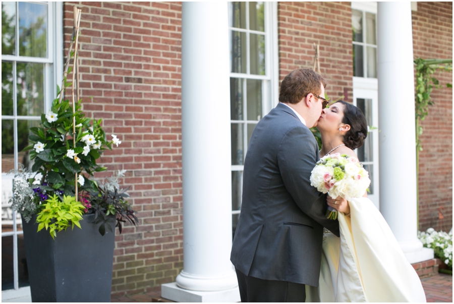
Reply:
M74 5L83 110L122 141L103 154L104 175L127 170L139 218L117 231L112 294L160 290L183 267L181 3L67 2L65 48Z

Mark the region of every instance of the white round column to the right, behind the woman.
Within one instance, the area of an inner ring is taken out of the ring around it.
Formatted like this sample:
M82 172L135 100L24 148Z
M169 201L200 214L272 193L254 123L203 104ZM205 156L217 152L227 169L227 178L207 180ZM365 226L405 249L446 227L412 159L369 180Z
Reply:
M418 240L415 85L410 2L378 2L380 211L407 260L433 259Z

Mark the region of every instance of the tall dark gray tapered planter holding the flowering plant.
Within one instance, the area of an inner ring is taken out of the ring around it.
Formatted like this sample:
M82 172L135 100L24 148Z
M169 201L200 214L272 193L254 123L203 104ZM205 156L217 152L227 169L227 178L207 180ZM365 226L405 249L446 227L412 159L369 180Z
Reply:
M33 302L110 302L115 233L101 236L93 217L84 215L82 229L70 226L55 239L36 232L36 216L22 221Z

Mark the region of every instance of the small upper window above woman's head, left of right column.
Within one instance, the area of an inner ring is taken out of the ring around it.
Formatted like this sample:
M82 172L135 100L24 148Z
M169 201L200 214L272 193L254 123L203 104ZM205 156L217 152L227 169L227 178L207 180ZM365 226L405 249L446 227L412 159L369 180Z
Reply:
M354 9L352 3L353 76L377 78L376 9ZM376 3L375 3L376 6ZM361 7L359 7L361 9Z

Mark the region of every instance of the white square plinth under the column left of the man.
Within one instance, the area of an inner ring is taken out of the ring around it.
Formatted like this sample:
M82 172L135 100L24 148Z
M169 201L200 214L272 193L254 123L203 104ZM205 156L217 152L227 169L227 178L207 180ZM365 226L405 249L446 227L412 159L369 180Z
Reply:
M220 291L195 291L183 289L176 282L161 285L161 297L176 302L240 302L237 287Z

